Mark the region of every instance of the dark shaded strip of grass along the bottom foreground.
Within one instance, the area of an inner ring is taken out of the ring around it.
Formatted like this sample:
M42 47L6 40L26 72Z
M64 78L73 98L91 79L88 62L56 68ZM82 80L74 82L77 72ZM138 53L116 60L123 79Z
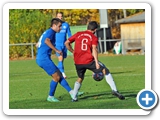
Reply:
M137 96L137 91L123 91L120 92L122 95L125 96L125 100L128 100L127 104L132 104L132 101L135 101ZM79 96L79 101L76 103L71 102L71 98L67 94L63 94L61 96L57 96L60 100L58 103L50 103L47 102L46 98L39 98L39 99L23 99L23 100L16 100L9 102L9 109L79 109L79 108L126 108L126 102L114 104L115 101L119 101L117 97L111 94L111 92L84 92L83 95ZM123 100L123 101L125 101ZM92 102L90 102L92 101ZM108 101L108 104L111 106L103 106L104 102ZM134 103L136 105L136 101ZM137 108L137 105L136 107Z

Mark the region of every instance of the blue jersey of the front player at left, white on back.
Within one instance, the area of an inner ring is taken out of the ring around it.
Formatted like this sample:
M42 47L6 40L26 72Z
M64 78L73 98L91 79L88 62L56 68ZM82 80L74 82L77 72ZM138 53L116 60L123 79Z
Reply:
M38 41L37 57L36 59L50 59L52 49L45 44L46 38L49 38L51 43L55 46L55 34L56 32L50 28L46 30L40 37Z

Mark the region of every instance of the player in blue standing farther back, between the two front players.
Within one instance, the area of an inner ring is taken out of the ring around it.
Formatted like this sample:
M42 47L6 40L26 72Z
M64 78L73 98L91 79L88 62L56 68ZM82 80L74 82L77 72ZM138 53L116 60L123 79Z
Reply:
M58 12L56 17L63 20L63 13ZM67 78L64 72L64 65L63 65L64 59L67 57L67 48L64 44L65 41L67 40L67 35L68 35L68 38L71 37L70 26L67 22L63 21L61 31L59 33L56 33L55 45L56 45L56 49L62 51L63 53L63 54L59 54L58 52L56 52L56 55L59 61L57 67L62 72L62 75L64 78Z

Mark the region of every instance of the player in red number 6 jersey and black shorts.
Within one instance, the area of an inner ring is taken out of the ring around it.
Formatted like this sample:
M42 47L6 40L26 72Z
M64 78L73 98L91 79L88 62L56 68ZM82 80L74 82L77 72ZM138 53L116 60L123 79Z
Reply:
M98 61L98 38L94 35L97 28L97 22L91 21L89 22L86 31L77 32L65 42L67 49L74 55L74 63L78 75L78 79L74 84L72 96L73 102L78 100L77 93L82 85L84 74L87 69L94 73L103 72L106 82L112 89L112 94L117 96L120 100L125 99L125 97L117 91L109 69ZM75 42L74 49L71 46L71 43L73 42Z

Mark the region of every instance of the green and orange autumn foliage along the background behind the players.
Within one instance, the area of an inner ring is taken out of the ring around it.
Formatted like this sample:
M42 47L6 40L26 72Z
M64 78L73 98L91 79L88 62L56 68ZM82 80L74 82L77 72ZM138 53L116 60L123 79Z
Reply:
M124 18L123 9L108 9L108 23L114 36L119 35L117 19ZM126 9L127 16L144 11L143 9ZM50 20L57 12L64 13L64 20L71 26L86 25L89 21L100 22L98 9L10 9L9 10L9 43L36 43L42 32L50 26ZM117 37L115 37L117 38ZM10 58L30 57L30 46L11 46ZM36 48L34 47L34 53Z

